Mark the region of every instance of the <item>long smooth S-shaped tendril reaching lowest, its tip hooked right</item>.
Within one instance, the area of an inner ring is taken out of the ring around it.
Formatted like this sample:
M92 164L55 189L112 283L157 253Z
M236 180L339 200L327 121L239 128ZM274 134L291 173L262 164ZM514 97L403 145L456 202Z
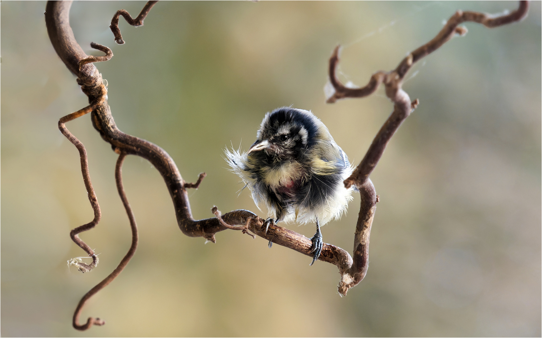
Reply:
M132 230L132 245L126 253L126 256L124 256L124 258L122 258L122 260L120 261L117 268L115 268L115 270L113 270L113 272L111 272L109 276L104 278L104 280L94 286L94 288L88 291L85 296L83 296L79 301L79 304L77 305L77 308L75 309L75 312L73 314L73 327L81 331L86 330L93 325L105 324L105 321L100 320L100 318L89 317L85 324L80 325L79 316L81 315L81 310L83 309L83 306L88 301L88 299L94 296L101 289L105 288L109 283L113 282L113 279L119 276L119 274L122 272L122 270L124 270L126 265L128 265L128 262L130 262L130 259L132 259L135 254L135 250L137 249L137 224L135 224L135 216L132 212L132 208L130 207L130 203L128 203L126 193L124 192L124 187L122 186L122 163L124 162L125 157L126 154L122 152L117 160L117 164L115 165L115 181L117 182L117 190L119 192L120 199L122 200L122 205L124 205L124 208L126 209L126 214L128 214L128 219L130 220L130 228Z

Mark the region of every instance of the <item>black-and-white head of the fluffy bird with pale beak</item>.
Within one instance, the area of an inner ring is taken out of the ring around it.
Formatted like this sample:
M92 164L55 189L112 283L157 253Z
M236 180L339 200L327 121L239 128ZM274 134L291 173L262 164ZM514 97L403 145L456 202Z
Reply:
M297 158L318 139L331 138L331 135L311 112L282 107L266 114L256 137L256 142L248 150L249 156L265 154L287 160Z

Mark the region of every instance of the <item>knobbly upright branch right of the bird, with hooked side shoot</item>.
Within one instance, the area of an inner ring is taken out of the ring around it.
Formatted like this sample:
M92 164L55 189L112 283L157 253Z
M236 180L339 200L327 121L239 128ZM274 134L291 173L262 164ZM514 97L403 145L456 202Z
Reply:
M478 22L486 27L498 27L499 25L520 21L527 15L528 3L520 1L519 8L508 15L492 17L487 14L472 12L472 11L457 11L450 17L444 28L437 36L424 44L422 47L414 50L414 52L404 58L397 68L391 72L377 72L371 76L369 83L360 88L348 88L341 84L335 75L335 68L339 62L339 46L333 50L333 54L329 63L329 76L331 85L334 88L334 93L327 99L328 103L334 103L338 99L347 97L364 97L375 92L380 84L386 87L386 96L394 104L393 112L382 128L378 131L373 139L371 146L367 150L363 160L359 163L352 175L344 181L346 188L352 185L358 187L362 195L362 201L354 233L354 254L353 264L346 271L341 272L341 282L339 283L339 294L346 295L346 292L359 284L365 277L369 264L369 236L371 233L372 220L375 216L376 203L379 201L376 195L375 187L369 175L375 169L380 157L386 149L386 145L390 142L391 137L403 121L416 109L420 103L418 99L410 101L409 95L403 91L402 84L405 74L424 56L434 52L441 47L445 42L449 41L455 34L465 35L467 29L458 27L462 22Z

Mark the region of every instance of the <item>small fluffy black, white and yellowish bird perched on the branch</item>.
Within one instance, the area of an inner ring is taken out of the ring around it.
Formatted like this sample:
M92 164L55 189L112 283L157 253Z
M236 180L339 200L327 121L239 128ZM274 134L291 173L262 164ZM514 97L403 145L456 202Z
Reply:
M316 223L314 264L324 244L320 226L339 218L353 199L353 188L343 184L353 168L327 127L309 111L278 108L263 118L247 152L226 150L225 155L256 206L267 207L266 231L278 221Z

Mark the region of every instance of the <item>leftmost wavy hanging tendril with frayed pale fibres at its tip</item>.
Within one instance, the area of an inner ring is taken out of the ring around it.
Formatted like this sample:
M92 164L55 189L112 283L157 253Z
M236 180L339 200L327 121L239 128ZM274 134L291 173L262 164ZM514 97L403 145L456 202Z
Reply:
M76 119L78 117L81 117L89 112L92 111L92 106L87 106L79 111L76 111L75 113L71 113L69 115L66 115L62 117L59 120L59 129L60 132L66 138L69 140L69 142L72 142L73 145L75 145L75 148L79 150L79 157L81 160L81 172L83 174L83 182L85 182L85 188L87 189L88 194L88 200L91 202L92 209L94 210L94 219L82 226L76 227L72 231L70 231L69 236L72 238L72 240L79 245L83 250L85 250L86 253L88 253L89 257L92 257L92 263L91 264L85 264L82 262L73 262L72 264L77 266L79 268L79 271L81 272L89 272L96 265L98 265L98 256L94 253L94 250L91 249L82 239L79 238L79 233L83 231L87 231L92 229L93 227L98 224L101 218L101 212L100 212L100 205L98 204L98 198L96 198L96 194L94 193L94 188L92 187L91 182L91 174L88 172L88 157L87 157L87 150L85 149L85 146L77 139L72 133L69 132L69 130L66 128L66 122L69 122L73 119Z

